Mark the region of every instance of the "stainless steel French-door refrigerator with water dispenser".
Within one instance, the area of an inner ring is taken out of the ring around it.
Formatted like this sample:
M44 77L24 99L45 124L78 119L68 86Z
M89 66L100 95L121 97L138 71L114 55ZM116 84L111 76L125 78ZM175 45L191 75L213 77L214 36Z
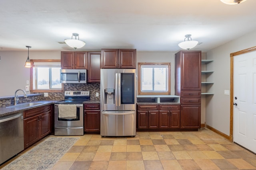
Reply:
M136 69L100 70L100 135L136 135Z

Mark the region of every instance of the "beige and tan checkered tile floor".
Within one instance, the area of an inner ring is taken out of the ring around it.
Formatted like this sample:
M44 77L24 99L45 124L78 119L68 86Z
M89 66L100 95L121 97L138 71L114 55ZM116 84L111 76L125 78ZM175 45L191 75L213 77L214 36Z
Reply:
M86 134L52 169L256 170L256 155L205 128L118 138Z

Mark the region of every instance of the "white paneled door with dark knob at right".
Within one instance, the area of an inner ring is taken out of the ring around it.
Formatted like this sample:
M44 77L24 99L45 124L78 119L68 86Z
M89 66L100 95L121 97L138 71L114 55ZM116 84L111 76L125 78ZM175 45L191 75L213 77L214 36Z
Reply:
M234 142L256 153L256 52L234 57Z

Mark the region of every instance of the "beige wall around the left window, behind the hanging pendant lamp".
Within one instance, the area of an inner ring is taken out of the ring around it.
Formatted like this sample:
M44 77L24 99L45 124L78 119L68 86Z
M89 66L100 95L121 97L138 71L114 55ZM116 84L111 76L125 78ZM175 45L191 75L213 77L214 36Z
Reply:
M28 51L0 51L0 56L0 96L14 96L15 90L25 89L26 80L30 80L30 69L24 66ZM60 59L60 52L29 51L29 58Z

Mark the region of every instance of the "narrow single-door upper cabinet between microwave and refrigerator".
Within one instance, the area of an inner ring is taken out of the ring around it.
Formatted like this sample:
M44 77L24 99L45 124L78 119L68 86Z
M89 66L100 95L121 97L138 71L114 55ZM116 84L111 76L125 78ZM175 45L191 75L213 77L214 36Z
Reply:
M100 51L88 52L88 82L100 82Z

